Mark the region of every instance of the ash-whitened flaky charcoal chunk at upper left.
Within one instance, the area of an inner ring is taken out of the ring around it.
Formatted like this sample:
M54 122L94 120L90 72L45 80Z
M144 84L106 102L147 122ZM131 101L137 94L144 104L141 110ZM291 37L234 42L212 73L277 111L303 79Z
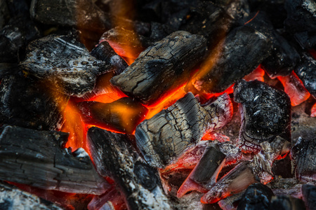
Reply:
M82 43L68 36L46 36L29 43L27 58L20 64L38 78L46 78L59 91L81 96L91 92L96 77L111 66L89 55Z

